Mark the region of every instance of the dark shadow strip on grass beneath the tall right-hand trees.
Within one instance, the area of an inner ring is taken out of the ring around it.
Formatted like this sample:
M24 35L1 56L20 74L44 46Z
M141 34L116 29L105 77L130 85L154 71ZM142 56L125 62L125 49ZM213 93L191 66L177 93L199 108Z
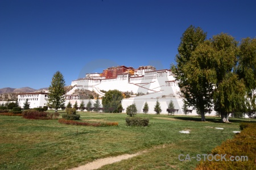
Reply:
M198 117L173 117L173 118L176 118L176 119L179 119L179 120L184 120L184 121L197 121L197 122L201 122L201 117L198 116ZM220 117L205 117L205 120L208 121L208 122L214 122L214 123L224 123L224 122L221 122L221 118ZM248 118L232 118L230 117L229 118L229 122L230 123L242 123L242 122L256 122L256 119L248 119Z

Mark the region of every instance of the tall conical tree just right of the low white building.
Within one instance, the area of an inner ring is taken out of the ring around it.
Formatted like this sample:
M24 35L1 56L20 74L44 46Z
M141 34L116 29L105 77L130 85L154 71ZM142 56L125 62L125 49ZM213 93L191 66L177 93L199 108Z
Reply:
M65 80L60 71L57 71L49 86L48 106L51 106L57 112L57 109L65 102Z

